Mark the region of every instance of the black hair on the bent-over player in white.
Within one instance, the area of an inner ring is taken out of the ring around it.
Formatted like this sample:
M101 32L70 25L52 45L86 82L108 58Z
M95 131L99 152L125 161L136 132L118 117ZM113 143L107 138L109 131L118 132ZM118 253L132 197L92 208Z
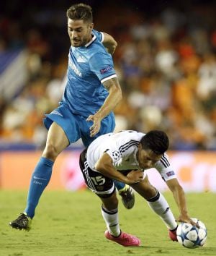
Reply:
M168 150L168 137L165 132L153 130L140 140L143 149L150 149L153 153L161 155Z

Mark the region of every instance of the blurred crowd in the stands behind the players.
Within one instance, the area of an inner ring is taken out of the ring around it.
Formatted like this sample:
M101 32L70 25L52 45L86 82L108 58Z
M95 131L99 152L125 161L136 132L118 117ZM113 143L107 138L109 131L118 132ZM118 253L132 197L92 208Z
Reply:
M1 150L45 145L42 119L63 93L66 9L76 2L1 1ZM116 129L163 129L173 150L216 150L216 2L82 2L118 43Z

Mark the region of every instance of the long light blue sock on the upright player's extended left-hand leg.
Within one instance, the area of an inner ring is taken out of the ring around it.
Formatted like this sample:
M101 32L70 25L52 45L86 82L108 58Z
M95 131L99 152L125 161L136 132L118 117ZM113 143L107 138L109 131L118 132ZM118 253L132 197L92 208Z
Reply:
M35 216L35 208L37 207L40 196L50 182L53 163L48 158L40 158L32 174L30 190L27 197L27 207L24 210L24 213L27 213L27 216L30 216L30 218Z

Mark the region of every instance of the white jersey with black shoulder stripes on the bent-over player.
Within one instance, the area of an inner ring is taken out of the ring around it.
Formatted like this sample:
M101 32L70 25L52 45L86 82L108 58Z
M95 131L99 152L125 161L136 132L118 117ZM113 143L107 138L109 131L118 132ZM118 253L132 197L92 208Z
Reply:
M143 132L127 130L97 137L87 150L86 160L89 167L96 171L96 162L106 152L112 158L113 166L118 171L140 169L137 152L140 140L144 135ZM168 162L168 155L164 154L154 167L165 181L176 178L174 169Z

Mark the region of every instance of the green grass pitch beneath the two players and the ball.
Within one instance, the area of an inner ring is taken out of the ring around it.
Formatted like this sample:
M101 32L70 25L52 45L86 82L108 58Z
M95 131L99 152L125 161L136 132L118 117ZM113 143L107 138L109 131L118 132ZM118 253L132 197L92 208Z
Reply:
M164 193L174 215L178 210L170 192ZM101 202L90 191L45 191L37 207L30 232L9 227L9 221L22 212L27 192L0 191L1 256L124 256L124 255L216 255L216 194L187 194L191 217L203 221L208 230L207 244L186 249L168 239L166 226L138 194L135 207L126 210L120 202L120 225L135 234L141 247L122 247L104 238L106 229L101 215Z

